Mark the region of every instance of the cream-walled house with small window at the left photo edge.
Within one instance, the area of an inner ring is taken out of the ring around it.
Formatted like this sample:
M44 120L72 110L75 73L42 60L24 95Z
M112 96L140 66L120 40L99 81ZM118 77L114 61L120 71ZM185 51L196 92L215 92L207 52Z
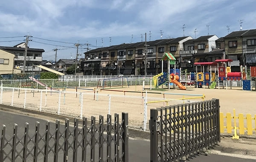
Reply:
M21 69L14 67L15 57L14 53L0 49L0 75L21 73Z

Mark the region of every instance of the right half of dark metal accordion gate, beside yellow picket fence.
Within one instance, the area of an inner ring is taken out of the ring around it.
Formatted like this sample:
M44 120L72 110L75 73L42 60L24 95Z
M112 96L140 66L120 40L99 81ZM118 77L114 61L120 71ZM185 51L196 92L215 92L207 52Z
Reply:
M185 161L220 142L219 100L150 110L151 162Z

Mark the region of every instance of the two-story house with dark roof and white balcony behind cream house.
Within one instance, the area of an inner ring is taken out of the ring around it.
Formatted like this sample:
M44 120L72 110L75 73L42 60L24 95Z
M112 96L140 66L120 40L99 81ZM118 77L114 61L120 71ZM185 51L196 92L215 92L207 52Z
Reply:
M17 44L13 47L9 46L0 46L0 49L4 49L6 51L15 53L17 57L15 58L14 65L15 67L19 67L20 69L24 68L24 56L25 56L25 43ZM27 48L26 55L26 65L25 72L38 71L39 68L33 65L40 65L42 62L42 53L44 49L35 49L35 48ZM34 68L34 69L33 69Z

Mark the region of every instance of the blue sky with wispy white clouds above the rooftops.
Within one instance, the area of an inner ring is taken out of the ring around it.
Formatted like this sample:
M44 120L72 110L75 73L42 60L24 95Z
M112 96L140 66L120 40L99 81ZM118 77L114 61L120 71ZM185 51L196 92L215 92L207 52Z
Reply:
M102 46L256 29L256 0L1 0L0 46L29 37L44 60ZM79 44L79 49L75 44Z

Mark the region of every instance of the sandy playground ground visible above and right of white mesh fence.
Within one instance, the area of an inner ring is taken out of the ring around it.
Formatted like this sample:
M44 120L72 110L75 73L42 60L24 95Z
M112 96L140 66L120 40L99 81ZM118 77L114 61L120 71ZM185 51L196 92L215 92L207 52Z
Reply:
M82 87L81 87L82 88ZM93 88L93 87L92 87ZM145 86L147 88L147 92L158 92L158 93L177 93L181 95L166 95L168 98L182 98L183 94L196 94L196 95L205 95L205 100L210 100L212 98L217 98L220 100L220 112L226 114L226 113L232 113L233 115L233 109L236 110L236 116L238 116L239 113L245 114L256 114L256 106L254 105L254 102L256 101L256 91L247 91L242 90L241 87L228 87L228 89L209 89L207 88L195 88L188 87L186 90L180 90L178 88L170 90L168 87L163 87L165 91L160 90L149 90L149 86ZM142 86L130 86L129 88L117 88L112 90L120 90L120 91L137 91L142 92L143 87ZM67 89L67 91L74 91L72 89ZM82 90L78 90L82 91ZM144 90L145 92L145 90ZM115 92L115 91L101 91L99 93L106 93L106 94L116 94L116 95L123 95L124 92ZM125 95L139 95L141 96L141 93L129 93L125 92ZM144 94L145 95L145 94ZM160 94L151 94L148 93L148 96L152 97L163 97L163 95ZM194 96L186 96L184 97L194 97Z

